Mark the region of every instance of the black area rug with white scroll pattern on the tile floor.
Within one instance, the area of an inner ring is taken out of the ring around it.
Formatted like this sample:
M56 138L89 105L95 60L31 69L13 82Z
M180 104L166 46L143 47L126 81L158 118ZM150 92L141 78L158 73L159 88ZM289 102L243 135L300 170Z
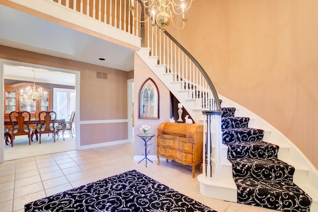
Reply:
M25 204L25 212L216 212L131 170Z

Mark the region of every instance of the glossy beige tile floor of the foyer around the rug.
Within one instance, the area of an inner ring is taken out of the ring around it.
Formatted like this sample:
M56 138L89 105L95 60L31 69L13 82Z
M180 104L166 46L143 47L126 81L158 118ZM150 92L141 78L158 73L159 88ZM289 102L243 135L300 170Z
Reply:
M134 143L26 157L0 163L0 212L23 212L24 204L136 169L218 212L271 210L206 198L191 168L176 162L133 161ZM196 171L196 176L199 174Z

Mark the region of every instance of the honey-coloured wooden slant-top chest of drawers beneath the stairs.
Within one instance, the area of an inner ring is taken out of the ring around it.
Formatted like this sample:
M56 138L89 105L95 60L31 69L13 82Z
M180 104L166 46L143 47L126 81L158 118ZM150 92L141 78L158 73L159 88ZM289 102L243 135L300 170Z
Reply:
M157 157L175 160L192 167L202 163L203 125L183 123L162 123L158 128Z

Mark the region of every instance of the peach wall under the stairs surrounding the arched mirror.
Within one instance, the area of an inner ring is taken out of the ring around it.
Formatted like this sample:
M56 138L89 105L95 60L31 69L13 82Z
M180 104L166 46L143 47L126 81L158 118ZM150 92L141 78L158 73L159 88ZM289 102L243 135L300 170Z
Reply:
M170 116L170 93L158 77L148 68L148 66L140 59L135 53L134 64L134 111L135 111L135 155L142 155L144 152L144 141L137 136L143 133L139 128L147 124L151 127L149 133L155 134L151 140L152 145L148 146L150 155L157 155L157 128L162 122L168 122ZM159 119L138 119L138 103L139 103L139 90L142 84L151 77L157 84L159 90Z

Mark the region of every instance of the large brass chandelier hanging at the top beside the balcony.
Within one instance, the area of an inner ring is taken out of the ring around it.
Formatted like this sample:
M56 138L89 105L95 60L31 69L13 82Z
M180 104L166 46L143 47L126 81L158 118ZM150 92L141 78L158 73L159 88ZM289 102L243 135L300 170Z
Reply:
M133 18L139 22L146 22L152 19L153 22L151 26L157 27L157 29L160 28L162 31L165 30L170 22L172 22L176 29L183 29L184 23L188 20L184 17L184 13L188 11L192 4L192 0L137 0L142 4L142 7L146 8L146 14L148 15L147 20L138 20L135 15L136 7L134 1L135 0L131 0L130 6L128 7ZM173 17L175 16L182 22L181 27L178 27L174 23Z

